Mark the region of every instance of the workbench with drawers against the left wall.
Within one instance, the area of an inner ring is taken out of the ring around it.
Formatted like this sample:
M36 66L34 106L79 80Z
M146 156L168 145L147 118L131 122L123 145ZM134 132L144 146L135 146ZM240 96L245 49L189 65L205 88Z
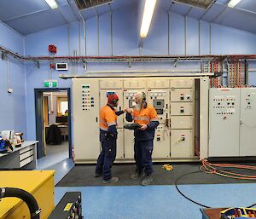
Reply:
M38 141L24 141L21 147L14 147L14 151L0 153L0 169L36 169L37 143Z

